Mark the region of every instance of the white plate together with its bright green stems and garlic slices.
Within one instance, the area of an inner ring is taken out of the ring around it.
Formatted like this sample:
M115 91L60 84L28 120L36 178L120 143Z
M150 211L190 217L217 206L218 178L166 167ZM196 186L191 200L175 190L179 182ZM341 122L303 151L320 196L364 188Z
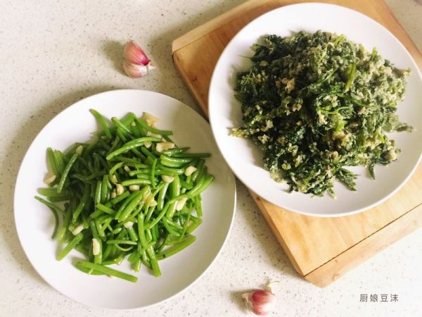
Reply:
M56 290L139 309L207 270L235 204L234 175L198 113L163 94L116 90L77 102L37 135L18 173L15 223Z

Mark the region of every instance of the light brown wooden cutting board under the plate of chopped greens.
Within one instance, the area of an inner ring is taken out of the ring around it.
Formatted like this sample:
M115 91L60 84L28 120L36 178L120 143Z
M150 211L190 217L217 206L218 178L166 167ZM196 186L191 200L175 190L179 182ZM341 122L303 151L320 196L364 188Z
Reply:
M174 40L174 63L205 114L212 70L229 40L262 13L298 2L305 1L246 1ZM383 0L320 2L346 6L377 20L406 46L422 69L421 52ZM422 165L388 201L352 216L302 216L251 194L295 270L320 287L422 225Z

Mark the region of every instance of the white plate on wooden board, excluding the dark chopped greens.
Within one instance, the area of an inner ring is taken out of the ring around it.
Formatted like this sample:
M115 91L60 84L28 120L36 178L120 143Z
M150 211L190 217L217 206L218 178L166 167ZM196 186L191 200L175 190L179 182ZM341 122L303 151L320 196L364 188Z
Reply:
M262 154L251 140L232 137L230 128L242 124L241 104L234 97L236 73L246 70L251 62L250 49L264 35L286 37L299 31L317 30L344 34L371 51L376 47L381 56L398 68L411 68L405 99L398 105L399 118L413 125L414 132L392 133L402 153L389 166L376 166L376 180L365 168L350 170L359 174L356 192L340 182L335 183L337 199L326 194L312 198L309 194L289 194L286 183L274 182L264 170ZM260 197L290 211L309 216L345 216L369 209L390 197L414 172L422 150L422 80L416 63L404 46L383 26L366 15L329 4L295 4L270 11L246 25L229 42L215 66L210 84L209 113L212 132L224 159L236 176Z

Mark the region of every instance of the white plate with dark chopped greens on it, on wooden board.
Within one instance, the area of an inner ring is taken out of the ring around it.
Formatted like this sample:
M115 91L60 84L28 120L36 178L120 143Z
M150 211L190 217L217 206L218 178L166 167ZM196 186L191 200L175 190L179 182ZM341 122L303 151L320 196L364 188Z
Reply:
M394 194L422 151L422 79L404 46L362 13L295 4L231 39L210 84L212 132L260 197L345 216Z

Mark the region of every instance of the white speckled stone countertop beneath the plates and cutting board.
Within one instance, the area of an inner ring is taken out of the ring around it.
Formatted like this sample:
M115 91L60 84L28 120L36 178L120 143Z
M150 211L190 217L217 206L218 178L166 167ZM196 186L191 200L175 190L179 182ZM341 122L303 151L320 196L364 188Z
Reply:
M241 0L0 2L0 316L246 316L241 293L281 281L271 316L422 316L422 230L404 237L324 289L295 274L247 190L238 182L234 225L222 253L195 285L139 311L92 309L64 297L30 265L13 221L20 161L46 123L75 101L119 88L168 94L200 111L174 68L172 40ZM422 5L388 0L422 48ZM122 74L133 38L155 60L152 75ZM359 302L378 294L378 302ZM380 295L388 294L388 302ZM390 294L398 302L390 302Z

